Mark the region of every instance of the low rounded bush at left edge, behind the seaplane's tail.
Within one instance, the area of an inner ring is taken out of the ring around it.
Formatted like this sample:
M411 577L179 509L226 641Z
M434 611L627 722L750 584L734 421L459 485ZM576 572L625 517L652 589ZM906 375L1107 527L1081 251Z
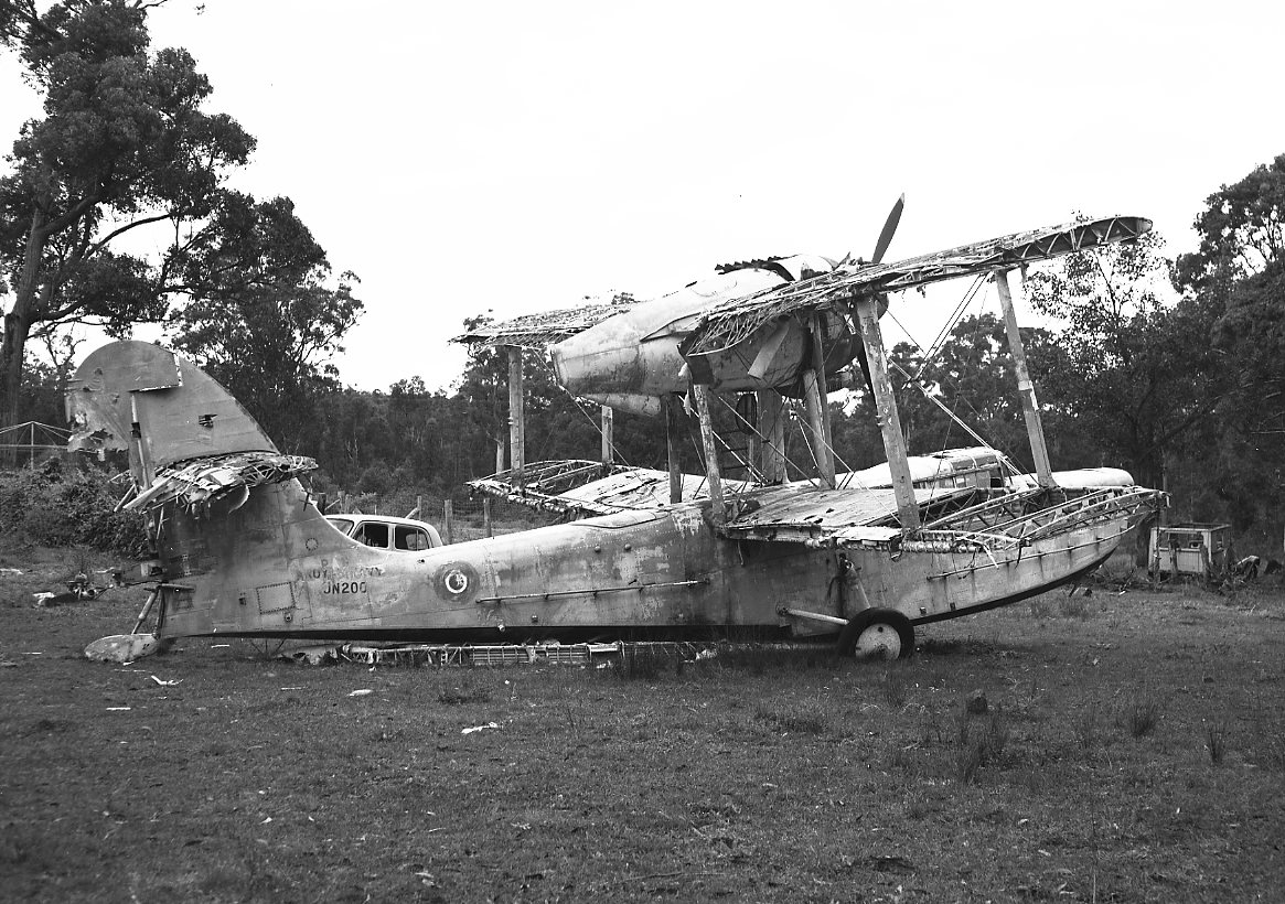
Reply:
M0 532L41 546L143 556L149 547L143 515L114 511L123 494L98 467L57 458L33 471L0 474Z

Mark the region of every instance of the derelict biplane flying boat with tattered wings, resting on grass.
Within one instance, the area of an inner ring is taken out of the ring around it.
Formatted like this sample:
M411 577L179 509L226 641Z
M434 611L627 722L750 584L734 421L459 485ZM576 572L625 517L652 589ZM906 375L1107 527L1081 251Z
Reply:
M157 555L135 633L104 642L135 657L181 637L517 643L753 629L905 656L916 625L1083 577L1162 494L1118 470L1051 471L1007 274L1136 240L1150 222L1110 217L882 263L897 216L900 204L874 262L750 262L654 300L461 336L510 349L518 412L520 348L537 347L574 396L663 419L669 470L527 465L519 442L509 471L474 485L578 520L430 550L343 535L299 480L315 464L281 455L190 361L139 342L98 349L68 388L71 444L128 451L134 491L122 505L146 514ZM880 313L888 293L960 276L998 289L1032 476L986 447L907 455ZM840 475L826 393L855 363L888 462ZM786 480L783 412L795 399L815 473ZM722 476L717 404L750 435L748 479ZM678 467L685 407L699 422L703 475Z

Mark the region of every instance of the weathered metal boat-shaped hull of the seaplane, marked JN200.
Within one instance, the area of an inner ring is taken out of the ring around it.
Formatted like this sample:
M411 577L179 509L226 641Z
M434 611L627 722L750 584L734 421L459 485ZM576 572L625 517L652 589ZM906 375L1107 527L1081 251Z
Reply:
M932 622L1068 580L1109 556L1127 526L1104 521L1009 553L891 555L725 539L708 503L687 503L397 552L341 534L294 480L256 487L240 509L203 520L167 506L164 525L161 636L478 639L723 627L825 633L834 627L779 613L851 618L866 605Z

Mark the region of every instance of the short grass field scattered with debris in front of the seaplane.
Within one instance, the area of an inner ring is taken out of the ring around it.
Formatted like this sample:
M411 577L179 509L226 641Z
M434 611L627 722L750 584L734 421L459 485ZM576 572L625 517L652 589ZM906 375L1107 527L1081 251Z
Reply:
M33 609L42 561L0 577L3 899L1285 900L1276 586L1061 591L893 664L116 666L81 648L140 592Z

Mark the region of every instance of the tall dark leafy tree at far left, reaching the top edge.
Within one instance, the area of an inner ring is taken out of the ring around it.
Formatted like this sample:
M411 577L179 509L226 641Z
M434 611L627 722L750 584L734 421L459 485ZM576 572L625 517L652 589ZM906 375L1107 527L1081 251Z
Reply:
M209 81L185 50L149 53L146 6L68 0L37 13L6 4L0 39L44 94L0 178L0 262L13 302L0 342L0 415L18 408L31 335L71 322L123 334L158 321L229 167L254 140L229 116L202 109ZM163 223L161 259L128 248Z

